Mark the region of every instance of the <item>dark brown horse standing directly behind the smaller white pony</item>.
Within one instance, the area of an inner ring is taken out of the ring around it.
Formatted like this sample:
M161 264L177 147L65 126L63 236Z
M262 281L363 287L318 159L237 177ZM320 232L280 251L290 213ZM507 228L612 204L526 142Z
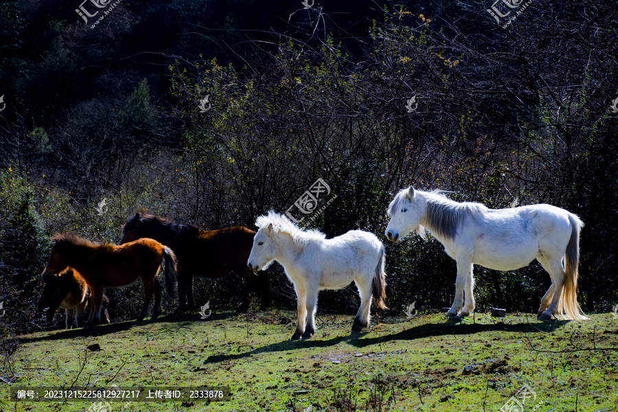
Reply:
M172 248L178 257L180 310L185 310L187 304L189 309L195 308L194 275L216 279L232 271L247 282L240 306L240 310L247 310L249 293L253 290L260 290L263 308L270 304L271 299L268 272L255 275L247 267L253 236L254 231L241 226L205 231L194 225L181 225L158 216L137 213L124 224L120 243L152 238Z

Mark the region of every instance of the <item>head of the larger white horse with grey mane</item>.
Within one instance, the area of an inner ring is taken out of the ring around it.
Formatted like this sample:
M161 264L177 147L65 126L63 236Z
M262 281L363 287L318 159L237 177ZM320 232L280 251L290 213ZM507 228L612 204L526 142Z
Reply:
M426 205L424 198L414 192L414 187L401 190L389 205L389 225L385 236L396 242L406 236L410 231L416 230L424 237L424 229L420 225L421 216L424 214Z

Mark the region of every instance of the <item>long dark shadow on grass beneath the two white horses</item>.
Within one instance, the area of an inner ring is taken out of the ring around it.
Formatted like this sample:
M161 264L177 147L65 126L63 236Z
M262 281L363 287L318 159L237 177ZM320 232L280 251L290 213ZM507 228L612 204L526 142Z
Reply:
M369 345L376 345L378 343L384 343L387 341L412 341L414 339L422 339L429 336L445 336L445 335L469 335L481 332L487 332L490 330L501 332L553 332L561 328L563 325L569 323L569 321L553 320L549 322L538 323L495 323L495 324L481 324L481 323L461 323L459 319L450 319L444 321L444 323L425 323L418 325L408 330L403 330L396 334L384 334L381 336L365 338L368 334L374 332L374 330L367 330L360 334L350 334L348 336L339 336L333 339L325 341L318 341L315 339L306 339L302 341L283 341L279 343L273 343L263 347L258 347L255 350L244 352L242 354L235 355L211 355L204 363L218 363L225 361L234 361L249 356L263 354L268 352L282 352L288 350L306 349L308 347L330 347L337 345L341 342L347 342L354 347L365 347Z

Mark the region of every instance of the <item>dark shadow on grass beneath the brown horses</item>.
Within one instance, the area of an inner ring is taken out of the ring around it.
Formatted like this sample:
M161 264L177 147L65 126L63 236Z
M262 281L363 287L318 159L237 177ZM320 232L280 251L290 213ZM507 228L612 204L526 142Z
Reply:
M240 314L240 312L218 312L211 313L211 315L204 319L204 321L213 322L213 321L222 321L225 319L229 319L232 317L236 317ZM116 333L116 332L124 332L125 330L130 330L136 326L142 325L165 325L166 323L172 325L174 328L183 328L189 327L192 323L196 321L202 321L200 314L196 313L196 310L191 312L179 312L179 313L171 313L165 314L164 316L155 319L154 321L150 319L145 319L141 322L136 321L122 321L117 323L108 323L97 325L94 328L89 329L67 329L67 330L52 330L47 332L37 332L36 334L27 334L23 336L19 336L20 343L32 343L32 342L45 342L45 341L58 341L61 339L72 339L76 337L87 337L87 336L105 336L106 334ZM173 328L172 328L173 329Z

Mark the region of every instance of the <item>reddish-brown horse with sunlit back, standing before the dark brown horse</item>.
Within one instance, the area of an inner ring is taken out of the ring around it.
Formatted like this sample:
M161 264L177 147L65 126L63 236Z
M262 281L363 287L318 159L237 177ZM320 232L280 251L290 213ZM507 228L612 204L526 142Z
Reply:
M89 242L71 234L56 234L49 263L43 272L60 273L71 266L86 280L91 289L92 309L86 328L100 323L101 304L104 288L128 286L141 279L144 285L144 306L137 317L142 321L148 314L152 294L155 294L155 310L151 319L161 314L161 284L157 279L159 268L165 261L165 287L174 296L174 277L176 277L176 255L172 249L156 240L140 239L135 242L115 246Z

